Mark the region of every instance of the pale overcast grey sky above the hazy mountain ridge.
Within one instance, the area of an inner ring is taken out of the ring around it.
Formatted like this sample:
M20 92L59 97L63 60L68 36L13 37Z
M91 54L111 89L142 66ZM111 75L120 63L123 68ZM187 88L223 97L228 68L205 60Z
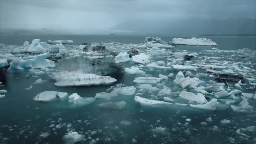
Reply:
M0 0L0 26L109 29L127 20L256 17L256 0Z

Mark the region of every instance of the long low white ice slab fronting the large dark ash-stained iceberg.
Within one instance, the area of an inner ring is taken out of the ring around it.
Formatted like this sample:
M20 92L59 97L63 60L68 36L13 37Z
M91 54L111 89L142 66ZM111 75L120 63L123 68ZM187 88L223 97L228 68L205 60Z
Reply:
M110 85L117 81L109 76L83 74L80 72L58 72L51 76L57 86Z

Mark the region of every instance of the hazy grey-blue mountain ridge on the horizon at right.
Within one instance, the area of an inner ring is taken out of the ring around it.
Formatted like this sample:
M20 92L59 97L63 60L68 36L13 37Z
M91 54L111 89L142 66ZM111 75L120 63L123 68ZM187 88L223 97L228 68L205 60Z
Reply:
M255 35L256 19L187 19L124 21L114 30L169 35Z

